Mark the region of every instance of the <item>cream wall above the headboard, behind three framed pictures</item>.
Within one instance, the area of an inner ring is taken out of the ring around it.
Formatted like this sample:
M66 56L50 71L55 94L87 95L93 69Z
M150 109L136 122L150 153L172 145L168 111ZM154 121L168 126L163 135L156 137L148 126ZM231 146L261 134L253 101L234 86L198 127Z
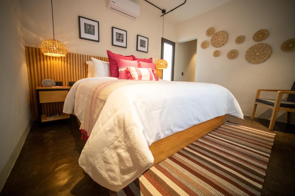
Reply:
M106 50L140 58L160 59L163 17L161 11L143 0L136 21L106 8L106 0L53 0L55 39L63 42L69 52L106 57ZM53 38L50 0L22 2L26 46L40 47L43 40ZM100 42L79 38L78 16L99 21ZM112 46L112 26L127 30L127 48ZM175 25L165 20L164 37L175 41ZM137 34L149 38L148 53L136 51Z

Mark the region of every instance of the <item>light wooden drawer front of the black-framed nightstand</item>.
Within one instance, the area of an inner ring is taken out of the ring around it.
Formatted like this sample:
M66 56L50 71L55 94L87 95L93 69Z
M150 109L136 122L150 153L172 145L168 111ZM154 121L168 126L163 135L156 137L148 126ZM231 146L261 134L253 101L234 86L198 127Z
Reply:
M69 91L39 91L40 103L65 101Z

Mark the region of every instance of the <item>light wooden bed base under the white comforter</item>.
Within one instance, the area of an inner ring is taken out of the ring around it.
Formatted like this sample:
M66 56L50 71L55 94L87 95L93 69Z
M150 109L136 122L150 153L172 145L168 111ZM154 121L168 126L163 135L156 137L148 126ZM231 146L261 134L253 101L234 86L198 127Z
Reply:
M154 157L153 165L160 163L162 160L165 160L187 145L216 129L222 125L224 118L225 115L218 116L152 143L149 148ZM76 120L78 124L81 125L77 117Z

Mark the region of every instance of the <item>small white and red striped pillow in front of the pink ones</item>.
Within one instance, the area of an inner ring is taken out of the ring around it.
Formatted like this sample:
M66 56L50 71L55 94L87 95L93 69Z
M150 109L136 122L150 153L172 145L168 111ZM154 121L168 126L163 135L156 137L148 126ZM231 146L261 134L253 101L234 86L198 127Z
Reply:
M125 71L129 80L159 80L155 70L151 68L128 67Z

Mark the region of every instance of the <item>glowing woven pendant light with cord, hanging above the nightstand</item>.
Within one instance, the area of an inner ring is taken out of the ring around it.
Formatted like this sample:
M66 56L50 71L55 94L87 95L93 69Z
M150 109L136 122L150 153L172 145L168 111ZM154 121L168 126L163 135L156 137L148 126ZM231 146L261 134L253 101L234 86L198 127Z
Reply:
M51 11L52 11L52 26L53 26L53 39L47 39L42 41L40 49L44 55L47 56L66 56L67 55L67 48L63 43L54 38L54 24L53 24L53 7L52 7L52 0L51 0Z

